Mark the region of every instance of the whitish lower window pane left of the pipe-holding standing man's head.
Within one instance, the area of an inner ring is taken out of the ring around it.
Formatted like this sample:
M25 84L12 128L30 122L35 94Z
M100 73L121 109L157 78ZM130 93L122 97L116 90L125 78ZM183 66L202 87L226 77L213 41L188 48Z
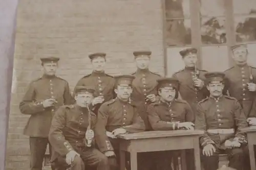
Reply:
M180 51L188 47L167 48L167 76L172 76L175 72L185 67Z

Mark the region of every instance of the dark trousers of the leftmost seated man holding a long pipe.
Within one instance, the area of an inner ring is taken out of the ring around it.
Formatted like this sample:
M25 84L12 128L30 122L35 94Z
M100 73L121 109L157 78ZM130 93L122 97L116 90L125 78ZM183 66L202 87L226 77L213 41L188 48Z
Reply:
M71 165L66 163L66 157L58 157L53 162L55 170L114 170L117 167L113 158L108 158L95 148L76 151L80 157L76 156Z

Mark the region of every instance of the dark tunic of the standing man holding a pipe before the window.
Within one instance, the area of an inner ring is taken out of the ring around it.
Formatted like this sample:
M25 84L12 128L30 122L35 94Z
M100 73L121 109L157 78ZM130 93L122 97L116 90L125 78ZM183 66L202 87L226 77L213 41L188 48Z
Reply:
M196 72L198 79L204 81L205 80L204 74L206 72L207 71L205 70L198 69L198 71ZM203 86L203 88L201 89L199 89L198 87L195 87L193 76L195 76L195 68L185 67L181 71L176 72L173 75L173 78L178 79L180 82L179 92L180 92L181 98L191 106L194 112L196 112L197 103L205 99L209 95L209 92L206 86Z

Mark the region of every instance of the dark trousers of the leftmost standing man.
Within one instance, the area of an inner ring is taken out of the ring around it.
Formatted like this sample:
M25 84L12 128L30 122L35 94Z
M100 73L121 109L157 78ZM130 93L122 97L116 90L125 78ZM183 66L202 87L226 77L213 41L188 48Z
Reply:
M47 144L49 144L49 152L51 157L51 145L48 138L46 137L30 137L30 169L31 170L41 170L42 162L45 158L45 153L47 149Z

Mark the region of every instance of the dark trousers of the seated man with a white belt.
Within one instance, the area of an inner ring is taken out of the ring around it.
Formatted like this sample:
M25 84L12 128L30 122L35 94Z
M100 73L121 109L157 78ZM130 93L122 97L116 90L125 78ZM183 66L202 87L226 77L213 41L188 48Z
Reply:
M240 148L222 150L216 148L216 152L212 156L201 155L201 161L205 170L216 170L219 168L219 154L228 155L228 166L236 170L243 170L245 146Z

